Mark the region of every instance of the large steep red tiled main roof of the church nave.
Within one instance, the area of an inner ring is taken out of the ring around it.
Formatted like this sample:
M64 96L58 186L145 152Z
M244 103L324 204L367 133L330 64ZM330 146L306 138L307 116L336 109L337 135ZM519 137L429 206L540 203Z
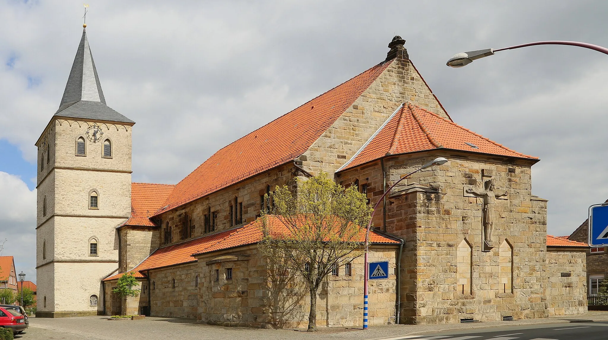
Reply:
M390 64L371 67L220 149L178 183L157 214L299 157Z

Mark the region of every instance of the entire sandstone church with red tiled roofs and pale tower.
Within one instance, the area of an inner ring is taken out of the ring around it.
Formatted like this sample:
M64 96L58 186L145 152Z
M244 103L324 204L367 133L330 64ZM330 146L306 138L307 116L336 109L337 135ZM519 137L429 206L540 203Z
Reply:
M395 36L350 80L219 149L176 185L131 183L134 121L106 105L86 32L38 147L36 316L145 314L302 327L306 291L276 282L259 220L275 186L327 172L374 205L370 325L545 318L587 310L584 244L548 250L538 158L455 123ZM202 161L202 160L201 160ZM274 217L270 216L270 219ZM553 241L551 241L553 242ZM123 273L139 296L112 293ZM362 257L336 268L317 325L362 325Z

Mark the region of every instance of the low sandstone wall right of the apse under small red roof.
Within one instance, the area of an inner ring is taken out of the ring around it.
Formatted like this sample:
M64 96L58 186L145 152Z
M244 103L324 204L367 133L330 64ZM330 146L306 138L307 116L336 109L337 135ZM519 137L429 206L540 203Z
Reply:
M545 296L550 316L587 313L586 255L586 248L547 247Z

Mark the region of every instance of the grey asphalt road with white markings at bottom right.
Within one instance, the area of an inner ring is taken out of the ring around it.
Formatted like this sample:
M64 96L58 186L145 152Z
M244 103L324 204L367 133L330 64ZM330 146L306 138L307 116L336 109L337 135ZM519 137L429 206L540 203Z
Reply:
M433 333L390 340L607 340L608 322L495 327L483 330ZM387 339L388 340L388 339Z

